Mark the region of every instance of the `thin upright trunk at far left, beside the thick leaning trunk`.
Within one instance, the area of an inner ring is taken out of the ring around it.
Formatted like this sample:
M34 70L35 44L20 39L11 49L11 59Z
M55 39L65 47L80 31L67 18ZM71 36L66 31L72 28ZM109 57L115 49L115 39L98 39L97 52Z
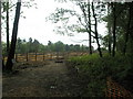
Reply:
M7 1L7 54L9 53L9 1Z

